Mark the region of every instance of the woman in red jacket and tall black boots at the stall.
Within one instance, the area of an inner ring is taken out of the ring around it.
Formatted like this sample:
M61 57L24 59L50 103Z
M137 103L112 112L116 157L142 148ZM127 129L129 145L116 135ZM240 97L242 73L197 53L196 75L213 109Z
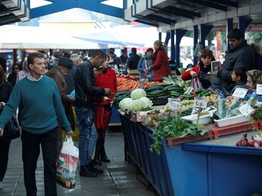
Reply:
M105 131L108 127L112 109L110 107L111 99L115 96L114 94L117 91L117 81L115 71L108 67L109 56L106 55L106 61L103 62L103 70L100 75L95 78L95 86L102 88L111 88L113 94L108 95L109 99L105 100L105 97L102 97L102 102L97 103L97 110L95 113L94 123L98 133L95 149L95 158L94 163L101 165L101 161L110 162L110 159L106 156L105 153ZM100 161L101 160L101 161Z

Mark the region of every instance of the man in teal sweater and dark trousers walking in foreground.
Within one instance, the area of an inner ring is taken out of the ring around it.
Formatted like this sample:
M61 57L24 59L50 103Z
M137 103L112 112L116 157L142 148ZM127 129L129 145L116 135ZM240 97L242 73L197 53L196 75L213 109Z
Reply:
M42 53L30 53L28 58L30 74L14 87L8 103L0 116L0 137L4 126L21 109L22 159L27 195L36 195L35 170L40 153L44 160L45 195L56 193L56 143L57 121L73 135L71 126L64 114L61 97L53 79L44 76L45 65Z

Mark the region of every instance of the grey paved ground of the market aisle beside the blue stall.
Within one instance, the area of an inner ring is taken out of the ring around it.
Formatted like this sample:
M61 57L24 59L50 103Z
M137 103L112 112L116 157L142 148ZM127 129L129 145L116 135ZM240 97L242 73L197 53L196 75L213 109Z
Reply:
M78 146L78 143L75 142ZM124 161L123 134L110 132L107 133L105 142L107 156L111 159L110 163L103 163L99 166L104 170L98 177L80 177L79 168L77 172L76 189L72 192L65 190L57 185L57 195L88 195L88 196L156 196L154 189L146 190L144 176L136 174L133 164ZM21 139L11 142L9 153L8 169L3 180L4 189L0 190L0 196L25 196L25 186L23 178L22 145ZM43 161L42 154L39 156L37 170L37 195L44 195L43 181Z

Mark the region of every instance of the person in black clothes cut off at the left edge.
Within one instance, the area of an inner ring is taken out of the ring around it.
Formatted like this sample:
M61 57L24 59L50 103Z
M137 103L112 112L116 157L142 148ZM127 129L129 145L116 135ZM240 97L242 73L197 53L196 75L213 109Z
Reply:
M8 102L9 96L13 89L12 84L6 81L6 73L2 66L0 66L0 115ZM0 128L1 131L1 128ZM8 153L11 140L2 140L0 142L0 189L4 188L3 179L5 177L8 165Z

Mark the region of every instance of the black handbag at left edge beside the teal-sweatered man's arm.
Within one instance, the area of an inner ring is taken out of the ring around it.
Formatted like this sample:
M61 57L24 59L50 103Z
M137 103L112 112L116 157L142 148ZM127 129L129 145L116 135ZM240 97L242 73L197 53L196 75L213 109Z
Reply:
M6 124L4 134L0 137L0 141L14 140L20 137L20 126L15 116Z

